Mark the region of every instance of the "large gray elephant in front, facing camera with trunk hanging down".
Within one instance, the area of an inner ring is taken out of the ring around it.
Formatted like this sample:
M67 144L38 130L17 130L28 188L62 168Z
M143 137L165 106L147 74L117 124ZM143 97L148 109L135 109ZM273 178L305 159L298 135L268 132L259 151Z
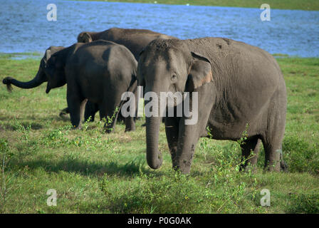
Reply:
M247 124L242 155L245 159L253 151L255 156L242 168L248 163L256 165L261 142L266 154L265 169L285 168L281 143L286 122L286 85L278 63L266 51L227 38L158 39L142 51L137 80L145 86L145 93L198 92L197 124L185 125L184 114L165 118L174 169L190 172L197 142L208 136L206 127L216 140L239 140ZM162 165L159 130L160 118L146 118L147 163L153 169Z

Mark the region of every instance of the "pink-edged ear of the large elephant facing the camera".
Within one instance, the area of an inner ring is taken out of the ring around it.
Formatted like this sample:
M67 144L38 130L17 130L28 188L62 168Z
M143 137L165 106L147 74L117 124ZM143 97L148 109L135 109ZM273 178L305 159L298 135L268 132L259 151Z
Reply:
M187 77L185 90L192 92L206 83L213 81L211 62L208 58L192 52L193 63Z

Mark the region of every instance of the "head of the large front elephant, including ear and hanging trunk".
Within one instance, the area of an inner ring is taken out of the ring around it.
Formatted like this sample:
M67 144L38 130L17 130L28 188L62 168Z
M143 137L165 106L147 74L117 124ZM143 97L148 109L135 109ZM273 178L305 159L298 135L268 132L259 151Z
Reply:
M209 59L190 51L187 43L157 39L140 53L137 80L145 87L145 94L152 91L160 97L160 92L193 92L213 78ZM148 102L145 99L145 105ZM162 165L158 151L160 123L160 117L146 117L147 163L153 169Z

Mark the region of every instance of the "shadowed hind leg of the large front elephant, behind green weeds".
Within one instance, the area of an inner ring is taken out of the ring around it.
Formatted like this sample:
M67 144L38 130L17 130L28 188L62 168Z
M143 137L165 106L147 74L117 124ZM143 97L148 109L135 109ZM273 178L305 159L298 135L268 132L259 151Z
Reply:
M241 167L240 170L245 170L247 165L251 165L256 167L258 160L258 152L261 144L261 140L259 138L251 138L249 140L245 140L241 145Z

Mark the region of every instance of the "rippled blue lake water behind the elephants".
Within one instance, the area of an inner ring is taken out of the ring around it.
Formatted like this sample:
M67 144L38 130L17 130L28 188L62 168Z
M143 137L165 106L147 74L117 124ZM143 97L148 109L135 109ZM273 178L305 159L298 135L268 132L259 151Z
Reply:
M46 19L51 3L57 6L57 21ZM319 11L271 9L271 21L261 21L259 7L0 0L0 52L43 52L49 46L70 46L81 31L118 27L178 38L226 37L270 53L319 57Z

